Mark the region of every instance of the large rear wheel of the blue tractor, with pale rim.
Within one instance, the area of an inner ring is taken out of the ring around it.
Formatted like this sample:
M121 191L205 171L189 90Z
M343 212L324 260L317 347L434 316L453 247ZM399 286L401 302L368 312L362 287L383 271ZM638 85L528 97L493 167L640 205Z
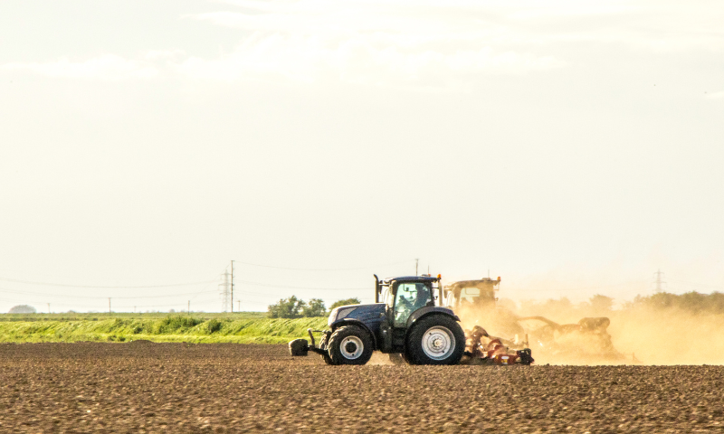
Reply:
M425 316L413 325L405 347L410 364L457 364L465 351L465 333L450 316Z

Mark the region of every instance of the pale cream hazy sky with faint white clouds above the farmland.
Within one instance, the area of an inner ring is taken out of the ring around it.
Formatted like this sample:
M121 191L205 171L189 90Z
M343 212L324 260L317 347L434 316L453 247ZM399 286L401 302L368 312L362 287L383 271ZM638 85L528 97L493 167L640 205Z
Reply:
M718 1L3 0L0 312L724 291ZM238 303L237 303L238 300ZM50 306L48 306L50 304Z

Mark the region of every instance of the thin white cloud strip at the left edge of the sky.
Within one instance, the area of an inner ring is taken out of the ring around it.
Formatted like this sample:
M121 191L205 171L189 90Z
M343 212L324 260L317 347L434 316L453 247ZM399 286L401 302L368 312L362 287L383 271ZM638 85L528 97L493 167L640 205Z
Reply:
M43 63L6 63L5 71L31 71L36 74L65 79L127 80L150 79L159 74L157 67L144 61L133 61L115 54L103 54L86 61L48 61Z

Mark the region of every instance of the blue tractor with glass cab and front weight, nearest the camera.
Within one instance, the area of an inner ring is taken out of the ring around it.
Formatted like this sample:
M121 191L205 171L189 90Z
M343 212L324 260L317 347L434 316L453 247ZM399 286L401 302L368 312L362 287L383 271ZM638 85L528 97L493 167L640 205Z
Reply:
M329 330L309 330L311 343L289 343L292 356L320 354L328 364L365 364L374 351L410 364L457 364L465 352L460 318L443 307L440 275L380 280L375 303L337 307ZM436 304L435 301L438 301ZM437 306L436 306L437 305ZM320 333L319 346L314 333Z

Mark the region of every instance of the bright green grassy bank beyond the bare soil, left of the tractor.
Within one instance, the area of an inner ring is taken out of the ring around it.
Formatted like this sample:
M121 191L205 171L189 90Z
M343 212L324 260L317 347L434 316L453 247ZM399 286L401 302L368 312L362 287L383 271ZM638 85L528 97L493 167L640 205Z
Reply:
M168 316L157 318L44 319L0 321L0 342L155 342L281 344L322 329L327 318L234 318Z

